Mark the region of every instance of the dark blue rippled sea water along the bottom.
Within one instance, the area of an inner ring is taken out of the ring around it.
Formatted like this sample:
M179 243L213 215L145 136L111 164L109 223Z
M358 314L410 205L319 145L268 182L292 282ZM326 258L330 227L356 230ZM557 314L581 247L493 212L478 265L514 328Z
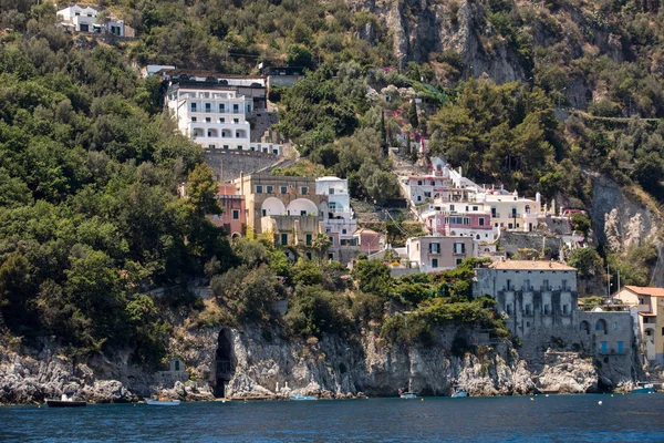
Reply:
M664 442L664 393L4 406L0 440Z

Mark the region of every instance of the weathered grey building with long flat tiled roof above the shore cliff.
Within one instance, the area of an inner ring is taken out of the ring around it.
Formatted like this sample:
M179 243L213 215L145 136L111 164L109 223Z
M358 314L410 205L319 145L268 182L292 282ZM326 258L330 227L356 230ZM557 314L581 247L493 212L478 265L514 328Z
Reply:
M495 261L476 269L473 293L495 298L518 337L577 323L577 269L558 261Z

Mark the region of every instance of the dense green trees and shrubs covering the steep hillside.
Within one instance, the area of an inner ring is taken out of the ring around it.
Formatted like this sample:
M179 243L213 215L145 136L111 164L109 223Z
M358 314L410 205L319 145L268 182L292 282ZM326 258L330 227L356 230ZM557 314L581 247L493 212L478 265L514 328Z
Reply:
M398 131L429 136L434 154L479 183L563 196L583 208L591 198L584 171L595 171L664 203L658 2L547 0L533 16L521 2L479 1L494 39L516 49L529 73L502 84L465 76L469 66L454 50L381 69L400 63L392 31L349 3L100 0L137 31L134 41L108 44L63 33L51 3L2 0L2 331L31 343L54 336L82 356L131 347L146 363L165 356L170 327L163 312L174 307L195 326L279 324L292 337L372 323L387 342L426 341L433 324L453 321L506 334L490 300L470 301L473 261L393 279L380 261L361 260L350 275L319 259L292 262L267 238L231 245L206 218L220 209L200 147L177 133L162 112L159 81L141 79L135 64L228 73L256 72L260 62L307 68L295 86L271 92L280 107L276 128L319 174L349 178L355 198L378 205L398 192L386 155ZM569 21L570 11L581 18ZM533 40L542 27L547 44ZM624 41L626 54L593 45L584 30L598 27ZM563 91L572 80L596 100L561 123L556 109L571 104ZM388 87L408 92L390 101L367 93ZM423 110L411 97L422 99ZM384 111L400 111L406 122ZM186 199L178 198L180 184ZM317 248L322 253L324 241ZM610 260L625 282L647 284L651 246L601 253L577 253L570 262L583 277ZM196 279L211 281L210 302L188 295ZM153 297L155 288L168 296ZM291 302L286 317L271 308L281 298Z

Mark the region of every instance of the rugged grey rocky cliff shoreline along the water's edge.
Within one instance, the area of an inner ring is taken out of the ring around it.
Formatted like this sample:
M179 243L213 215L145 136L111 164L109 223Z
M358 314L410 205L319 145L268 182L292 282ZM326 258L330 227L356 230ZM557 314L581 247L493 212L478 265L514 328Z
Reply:
M181 331L180 331L181 332ZM219 340L230 340L232 375L225 383L229 400L282 400L290 394L320 399L395 396L412 384L423 396L450 395L461 385L471 396L631 391L632 380L603 380L592 359L579 352L544 350L526 360L509 341L479 344L460 357L450 353L454 338L474 331L446 328L438 346L386 347L372 331L349 342L325 337L318 342L289 341L247 328L186 331L173 340L186 370L148 373L128 363L128 353L74 362L54 347L40 351L0 343L0 404L29 404L72 391L91 403L135 402L157 394L183 401L212 401ZM217 395L216 395L217 394Z

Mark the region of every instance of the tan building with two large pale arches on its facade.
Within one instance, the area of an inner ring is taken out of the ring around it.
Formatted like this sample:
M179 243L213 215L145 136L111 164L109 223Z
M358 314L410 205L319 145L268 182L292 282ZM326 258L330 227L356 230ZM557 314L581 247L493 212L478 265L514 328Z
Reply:
M241 174L236 187L245 196L247 225L256 234L270 231L278 245L311 246L324 233L328 196L315 194L314 178Z

